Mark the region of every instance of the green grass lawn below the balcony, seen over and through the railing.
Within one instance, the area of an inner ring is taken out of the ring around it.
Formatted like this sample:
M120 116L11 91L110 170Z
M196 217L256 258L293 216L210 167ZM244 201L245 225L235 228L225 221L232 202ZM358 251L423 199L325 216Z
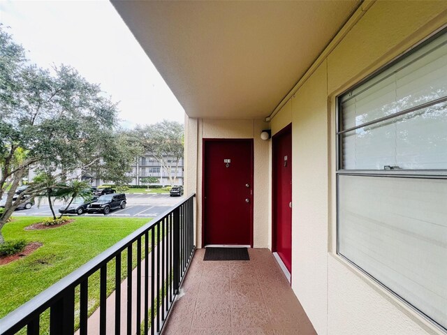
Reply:
M15 218L4 226L3 235L6 240L39 241L43 246L21 260L0 265L0 318L149 221L147 218L110 217L74 219L73 223L47 230L24 230L28 225L42 221L42 218L32 216ZM144 239L142 246L144 252ZM135 267L135 243L133 247ZM127 275L126 257L124 251L122 278ZM99 304L98 278L98 272L89 278L89 314L93 313ZM115 260L112 260L108 264L108 295L115 290L114 281ZM77 292L77 301L78 298ZM43 315L42 318L47 318L47 315ZM47 320L41 322L44 327L47 325Z

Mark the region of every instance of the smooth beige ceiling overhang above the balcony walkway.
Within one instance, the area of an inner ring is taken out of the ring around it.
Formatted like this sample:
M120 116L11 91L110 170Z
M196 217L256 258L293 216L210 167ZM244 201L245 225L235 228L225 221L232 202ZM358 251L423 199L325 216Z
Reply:
M189 117L251 119L270 115L360 1L112 3Z

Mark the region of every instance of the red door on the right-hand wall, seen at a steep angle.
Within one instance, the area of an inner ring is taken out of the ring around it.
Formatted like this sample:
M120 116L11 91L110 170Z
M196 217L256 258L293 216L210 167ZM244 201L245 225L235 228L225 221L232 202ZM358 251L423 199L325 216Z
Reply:
M273 251L292 273L292 127L272 137Z

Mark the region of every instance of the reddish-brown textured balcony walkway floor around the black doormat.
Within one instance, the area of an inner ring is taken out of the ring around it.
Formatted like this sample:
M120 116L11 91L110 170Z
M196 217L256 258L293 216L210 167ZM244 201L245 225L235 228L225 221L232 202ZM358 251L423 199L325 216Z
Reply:
M163 335L316 334L268 249L249 261L203 261L199 249Z

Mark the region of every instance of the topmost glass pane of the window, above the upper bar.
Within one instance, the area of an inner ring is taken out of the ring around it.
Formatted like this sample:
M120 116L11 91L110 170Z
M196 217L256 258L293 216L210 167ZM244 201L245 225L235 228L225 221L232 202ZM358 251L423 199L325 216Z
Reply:
M447 34L340 97L343 129L447 96Z

